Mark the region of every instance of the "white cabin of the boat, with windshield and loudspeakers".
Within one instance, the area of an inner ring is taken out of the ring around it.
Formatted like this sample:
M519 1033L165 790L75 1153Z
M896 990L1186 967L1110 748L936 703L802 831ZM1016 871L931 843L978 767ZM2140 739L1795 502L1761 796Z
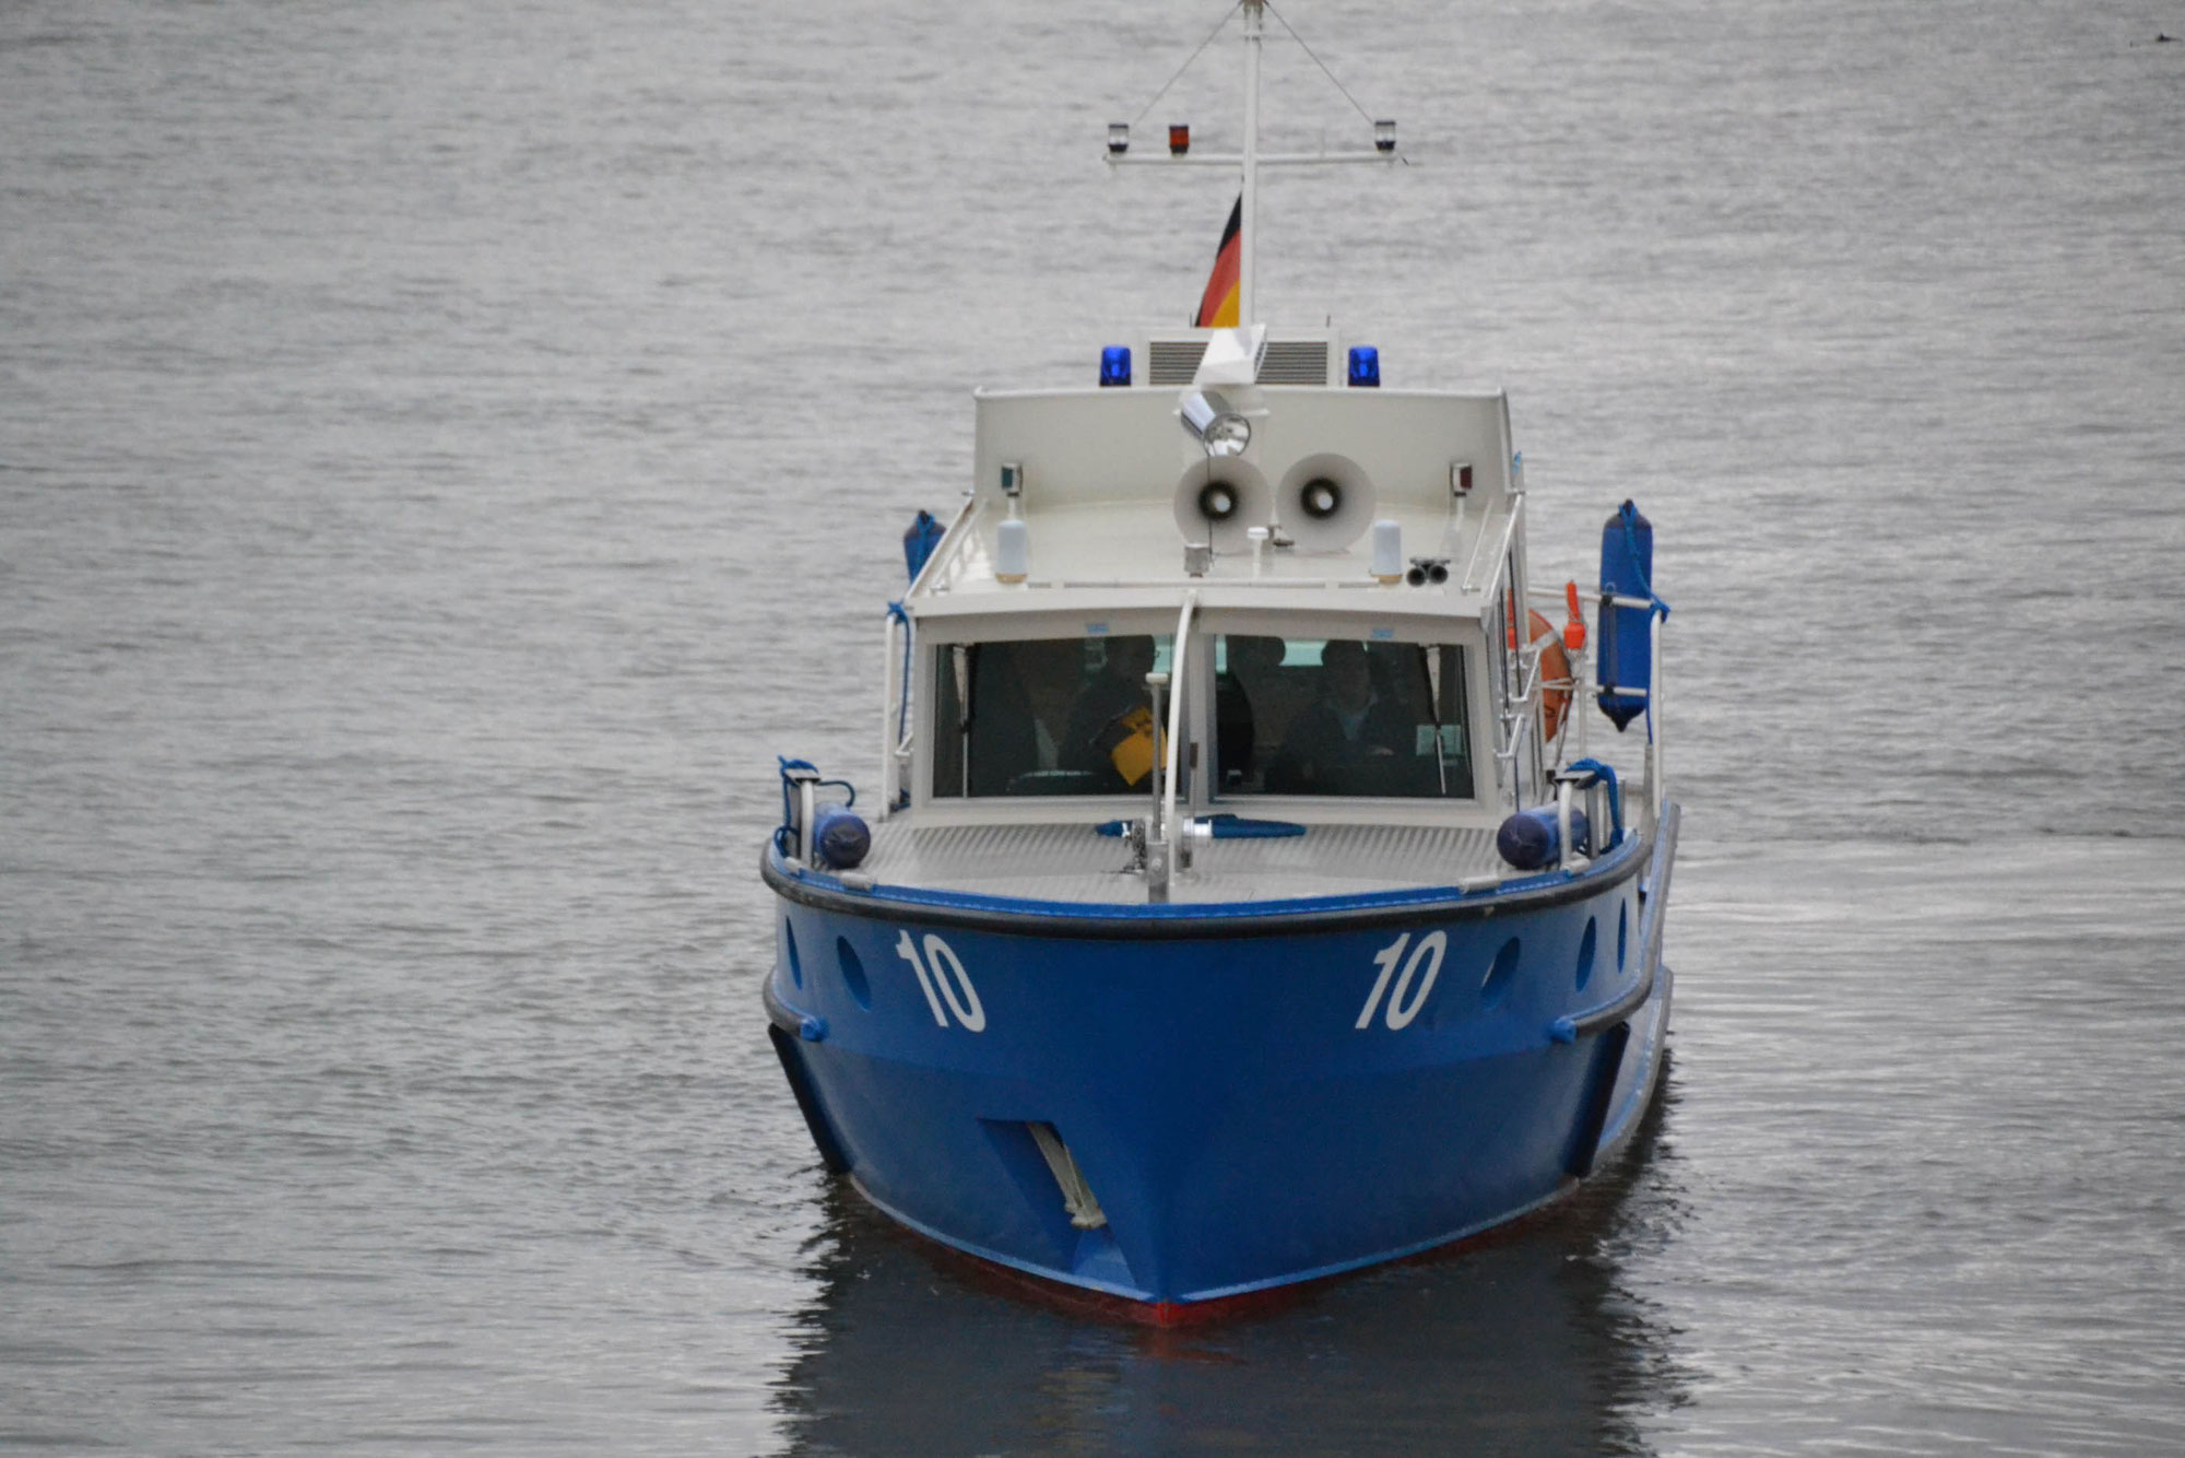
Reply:
M1538 802L1503 396L1346 385L1333 337L1265 326L1132 358L1127 387L975 396L975 481L905 597L909 654L889 623L881 815L1471 842ZM1245 420L1241 448L1189 428L1195 391Z

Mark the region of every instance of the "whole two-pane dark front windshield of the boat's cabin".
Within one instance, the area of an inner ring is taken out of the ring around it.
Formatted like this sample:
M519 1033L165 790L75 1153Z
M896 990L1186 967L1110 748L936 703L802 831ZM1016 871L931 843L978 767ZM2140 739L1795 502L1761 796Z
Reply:
M944 645L933 796L1147 789L1145 675L1169 647L1167 634ZM1473 798L1464 649L1217 634L1213 651L1221 796Z

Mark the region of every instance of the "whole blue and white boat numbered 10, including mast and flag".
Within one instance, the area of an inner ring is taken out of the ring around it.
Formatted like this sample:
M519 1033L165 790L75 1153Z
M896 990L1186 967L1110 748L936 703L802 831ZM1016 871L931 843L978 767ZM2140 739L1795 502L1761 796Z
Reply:
M1254 317L1259 173L1401 157L1377 118L1259 146L1265 9L1241 151L1108 133L1239 173L1193 326L975 391L970 490L883 616L878 772L782 759L760 855L826 1169L1156 1325L1567 1196L1654 1097L1674 981L1652 522L1536 595L1503 393ZM1643 737L1595 756L1595 713Z

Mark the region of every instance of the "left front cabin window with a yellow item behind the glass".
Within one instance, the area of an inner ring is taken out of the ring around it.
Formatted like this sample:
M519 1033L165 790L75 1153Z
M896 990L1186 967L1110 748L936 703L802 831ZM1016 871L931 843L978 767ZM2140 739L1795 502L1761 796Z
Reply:
M1119 796L1147 789L1145 675L1169 634L942 643L935 649L933 796Z

